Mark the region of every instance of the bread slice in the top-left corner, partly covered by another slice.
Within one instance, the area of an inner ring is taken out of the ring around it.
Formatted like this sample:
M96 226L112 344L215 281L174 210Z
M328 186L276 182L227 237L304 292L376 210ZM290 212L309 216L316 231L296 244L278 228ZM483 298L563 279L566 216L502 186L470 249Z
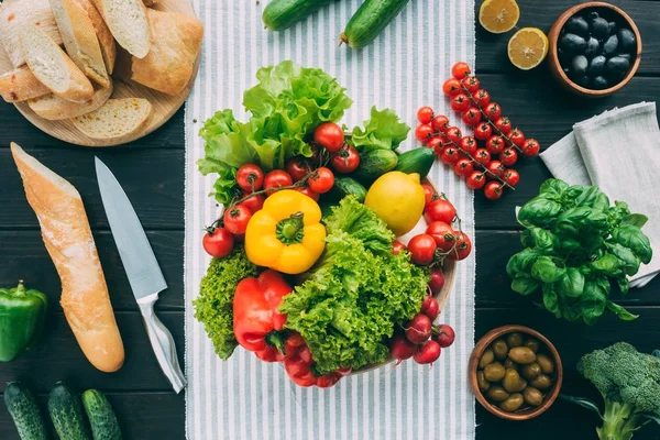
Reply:
M62 44L48 0L4 0L0 6L0 43L14 67L25 64L19 35L30 26L40 28L55 44Z

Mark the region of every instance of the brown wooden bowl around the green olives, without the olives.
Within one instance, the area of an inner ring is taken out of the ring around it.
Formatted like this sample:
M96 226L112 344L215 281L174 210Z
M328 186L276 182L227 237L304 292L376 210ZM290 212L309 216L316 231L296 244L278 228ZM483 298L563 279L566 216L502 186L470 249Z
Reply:
M530 336L530 337L537 339L539 342L541 342L546 346L547 353L550 354L552 356L552 360L554 361L554 376L552 377L554 386L551 392L546 394L546 397L543 398L543 403L541 405L539 405L538 407L527 408L527 409L522 409L522 410L519 410L516 413L507 413L503 409L499 409L495 405L491 404L486 399L486 397L482 394L481 389L479 389L479 384L476 382L476 369L477 369L480 359L484 354L484 351L486 351L486 349L496 339L498 339L505 334L513 333L515 331ZM470 387L472 388L472 393L474 394L474 397L491 414L494 414L495 416L506 419L506 420L529 420L529 419L532 419L532 418L538 417L541 414L546 413L546 410L548 408L550 408L550 406L552 406L554 400L557 400L557 397L559 396L559 392L561 389L561 383L563 381L563 366L561 364L561 359L559 356L559 352L557 351L554 345L552 345L552 343L548 340L548 338L546 338L538 331L530 329L529 327L503 326L503 327L498 327L496 329L491 330L482 339L479 340L479 342L474 346L474 350L472 350L472 354L470 355L470 362L468 364L468 377L469 377Z

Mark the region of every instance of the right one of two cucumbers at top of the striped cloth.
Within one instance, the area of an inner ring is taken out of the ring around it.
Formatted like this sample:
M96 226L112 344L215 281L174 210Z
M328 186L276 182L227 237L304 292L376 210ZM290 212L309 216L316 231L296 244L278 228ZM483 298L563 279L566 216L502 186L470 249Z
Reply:
M366 0L341 33L342 43L346 43L352 48L369 45L406 4L408 0Z

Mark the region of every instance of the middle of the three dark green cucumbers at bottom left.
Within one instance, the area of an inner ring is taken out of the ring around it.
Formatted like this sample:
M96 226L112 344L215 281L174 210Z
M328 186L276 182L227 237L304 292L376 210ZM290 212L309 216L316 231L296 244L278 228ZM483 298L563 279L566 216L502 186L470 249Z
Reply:
M56 383L51 389L48 413L61 439L91 440L78 396L62 382Z

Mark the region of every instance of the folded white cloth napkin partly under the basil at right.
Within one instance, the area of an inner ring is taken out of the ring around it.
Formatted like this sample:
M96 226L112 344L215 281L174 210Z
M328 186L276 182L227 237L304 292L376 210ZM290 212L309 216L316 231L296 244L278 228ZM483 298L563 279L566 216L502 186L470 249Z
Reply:
M605 111L541 153L552 175L570 185L596 185L610 198L649 218L644 232L653 248L650 264L630 278L646 286L660 272L660 129L656 102Z

